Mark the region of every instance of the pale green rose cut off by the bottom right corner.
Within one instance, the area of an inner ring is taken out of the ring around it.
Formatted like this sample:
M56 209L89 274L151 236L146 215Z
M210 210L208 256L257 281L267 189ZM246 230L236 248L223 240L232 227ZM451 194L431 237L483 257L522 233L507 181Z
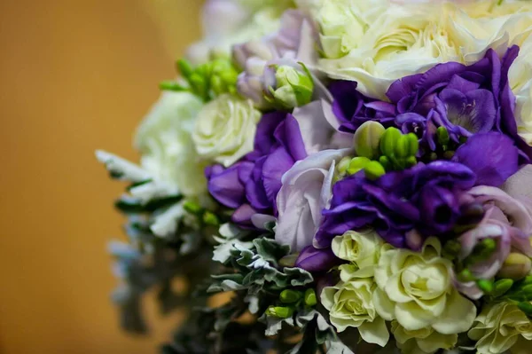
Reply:
M482 310L467 335L477 341L478 354L501 354L506 350L529 353L530 342L528 351L521 351L520 345L515 350L512 347L522 339L532 340L532 324L516 305L492 303Z

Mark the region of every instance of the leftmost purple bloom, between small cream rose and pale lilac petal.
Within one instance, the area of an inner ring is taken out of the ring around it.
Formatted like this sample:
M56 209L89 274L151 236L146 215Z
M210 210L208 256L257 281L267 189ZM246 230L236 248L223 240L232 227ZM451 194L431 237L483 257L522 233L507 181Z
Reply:
M236 209L232 221L251 226L256 213L275 215L281 177L307 152L292 114L264 114L257 125L254 151L228 169L206 169L208 191L221 204Z

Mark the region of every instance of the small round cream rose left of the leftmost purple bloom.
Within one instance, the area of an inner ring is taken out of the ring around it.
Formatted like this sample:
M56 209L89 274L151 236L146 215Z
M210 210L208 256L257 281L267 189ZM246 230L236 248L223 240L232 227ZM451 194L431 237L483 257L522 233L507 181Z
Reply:
M229 167L253 151L260 119L261 112L250 100L228 94L218 96L201 109L192 139L202 158Z

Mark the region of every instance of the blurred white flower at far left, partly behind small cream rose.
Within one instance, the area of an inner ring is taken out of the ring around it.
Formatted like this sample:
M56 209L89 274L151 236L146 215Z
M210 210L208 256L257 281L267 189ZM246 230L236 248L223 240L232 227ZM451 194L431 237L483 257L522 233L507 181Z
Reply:
M135 138L142 167L186 196L207 191L203 175L206 164L192 142L194 122L202 106L200 98L191 93L163 92Z

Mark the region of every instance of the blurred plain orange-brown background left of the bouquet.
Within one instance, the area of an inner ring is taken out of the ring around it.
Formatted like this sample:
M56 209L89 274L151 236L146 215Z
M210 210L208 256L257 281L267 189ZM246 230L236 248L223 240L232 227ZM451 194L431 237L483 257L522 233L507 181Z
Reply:
M106 242L123 185L94 158L131 136L200 36L196 0L0 1L0 352L154 353L180 319L121 332Z

